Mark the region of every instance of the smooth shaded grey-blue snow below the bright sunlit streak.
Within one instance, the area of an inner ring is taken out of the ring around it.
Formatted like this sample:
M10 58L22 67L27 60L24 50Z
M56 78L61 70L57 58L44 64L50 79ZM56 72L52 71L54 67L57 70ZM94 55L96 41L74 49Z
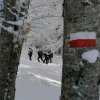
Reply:
M58 87L43 86L25 80L17 80L17 86L19 91L15 100L59 100Z

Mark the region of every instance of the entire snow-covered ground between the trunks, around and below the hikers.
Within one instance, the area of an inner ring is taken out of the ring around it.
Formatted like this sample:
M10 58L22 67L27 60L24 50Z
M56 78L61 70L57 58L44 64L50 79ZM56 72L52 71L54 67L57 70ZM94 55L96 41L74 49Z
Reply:
M24 46L19 65L15 100L59 100L62 60L60 56L52 64L37 62L36 50L29 61L28 47Z

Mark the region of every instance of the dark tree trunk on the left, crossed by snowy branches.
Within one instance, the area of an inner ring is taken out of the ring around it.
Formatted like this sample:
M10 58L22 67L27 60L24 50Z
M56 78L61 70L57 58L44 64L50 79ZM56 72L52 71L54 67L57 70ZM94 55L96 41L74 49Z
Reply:
M16 0L4 0L2 26L12 27L15 31L18 27L5 21L16 21ZM13 13L11 13L11 11ZM16 13L17 14L17 13ZM0 100L14 100L15 83L22 49L22 43L14 41L17 38L9 30L1 29L0 33Z

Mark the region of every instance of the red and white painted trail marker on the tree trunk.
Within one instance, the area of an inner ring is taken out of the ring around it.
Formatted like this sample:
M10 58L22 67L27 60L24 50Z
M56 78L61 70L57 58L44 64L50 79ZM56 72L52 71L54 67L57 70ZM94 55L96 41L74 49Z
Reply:
M96 46L95 32L77 32L70 34L69 45L71 48Z

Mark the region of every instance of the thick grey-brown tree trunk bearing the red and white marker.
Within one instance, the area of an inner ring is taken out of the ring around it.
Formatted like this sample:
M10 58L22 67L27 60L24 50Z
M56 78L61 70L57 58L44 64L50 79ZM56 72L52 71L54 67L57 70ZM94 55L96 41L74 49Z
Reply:
M100 0L64 0L64 41L61 100L99 100L100 59L82 60L85 51L100 51ZM96 47L70 48L71 33L95 32ZM91 55L92 57L92 55Z

